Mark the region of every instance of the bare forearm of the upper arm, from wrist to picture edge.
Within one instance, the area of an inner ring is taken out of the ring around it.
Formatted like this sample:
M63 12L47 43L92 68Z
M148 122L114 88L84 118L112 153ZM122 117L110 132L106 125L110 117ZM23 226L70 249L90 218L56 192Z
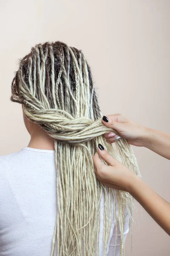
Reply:
M170 134L146 128L142 145L170 160Z

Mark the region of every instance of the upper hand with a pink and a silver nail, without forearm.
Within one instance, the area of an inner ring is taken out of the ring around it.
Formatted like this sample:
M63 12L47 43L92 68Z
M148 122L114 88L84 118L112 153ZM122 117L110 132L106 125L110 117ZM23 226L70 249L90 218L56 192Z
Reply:
M147 128L138 125L122 116L121 114L103 116L102 122L109 128L113 128L119 132L119 134L128 140L128 143L135 146L143 146L144 138L147 136ZM110 132L103 135L108 143L113 143L119 140L120 137L115 136Z

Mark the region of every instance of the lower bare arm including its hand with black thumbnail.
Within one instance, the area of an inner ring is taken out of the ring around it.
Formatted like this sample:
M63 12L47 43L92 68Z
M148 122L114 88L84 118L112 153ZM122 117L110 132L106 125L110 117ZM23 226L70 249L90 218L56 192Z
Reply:
M109 166L102 162L99 155ZM170 235L170 203L156 194L126 166L114 159L101 145L93 160L96 176L105 186L129 192Z

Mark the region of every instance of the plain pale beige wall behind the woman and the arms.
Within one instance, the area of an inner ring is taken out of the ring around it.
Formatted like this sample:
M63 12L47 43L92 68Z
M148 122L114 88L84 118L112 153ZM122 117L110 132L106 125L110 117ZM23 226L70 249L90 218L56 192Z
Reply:
M123 113L170 131L169 0L0 0L0 154L28 145L21 106L11 103L17 58L31 46L64 41L91 65L102 112ZM170 161L134 148L143 180L170 201ZM131 256L169 256L170 238L143 210ZM126 256L130 255L130 239Z

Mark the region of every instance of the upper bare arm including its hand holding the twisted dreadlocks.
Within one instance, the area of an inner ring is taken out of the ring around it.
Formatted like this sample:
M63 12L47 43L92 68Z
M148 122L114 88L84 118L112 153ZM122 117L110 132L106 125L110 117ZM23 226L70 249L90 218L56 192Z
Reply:
M118 131L123 138L127 139L129 144L149 148L156 154L170 160L170 134L138 125L121 114L103 116L102 122L107 127ZM112 132L103 136L110 144L121 139Z

